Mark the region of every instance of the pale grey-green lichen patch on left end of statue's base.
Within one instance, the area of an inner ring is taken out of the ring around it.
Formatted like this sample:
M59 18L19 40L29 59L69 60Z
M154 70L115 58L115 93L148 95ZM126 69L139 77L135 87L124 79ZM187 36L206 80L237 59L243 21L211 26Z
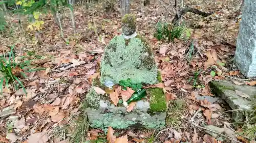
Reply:
M83 103L83 106L96 109L99 107L99 101L100 101L100 95L97 94L93 88L91 88L86 95L86 99Z

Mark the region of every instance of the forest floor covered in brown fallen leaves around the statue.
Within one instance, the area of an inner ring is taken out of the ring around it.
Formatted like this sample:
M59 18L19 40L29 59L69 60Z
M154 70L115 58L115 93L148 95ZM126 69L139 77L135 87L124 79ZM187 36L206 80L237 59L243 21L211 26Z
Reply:
M185 5L214 14L208 17L193 13L183 15L182 20L190 31L189 38L167 43L154 38L155 26L158 21L171 22L176 9L161 1L151 2L146 7L132 2L131 13L137 17L137 33L150 42L155 52L170 110L167 113L166 128L162 131L129 129L115 131L117 137L127 135L129 142L210 143L217 141L207 135L201 126L212 124L223 127L225 123L232 122L230 113L208 109L204 105L210 103L200 102L195 96L214 96L208 85L211 80L234 80L227 76L243 78L232 63L241 1L189 0L185 1ZM59 27L51 14L41 15L40 19L44 24L41 32L36 35L34 32L21 30L17 17L9 17L15 30L12 34L0 36L1 53L10 51L10 45L15 45L16 55L34 59L32 64L35 67L44 67L46 70L31 72L23 80L27 95L22 89L4 89L0 109L12 109L13 112L10 113L11 116L0 117L0 142L64 143L75 131L80 103L91 87L92 79L99 75L104 47L114 36L121 34L121 17L119 11L104 12L99 4L91 4L89 10L77 6L74 14L77 28L75 35L68 10L63 13L62 24L67 42L60 37ZM24 28L26 29L26 22ZM191 50L192 54L188 54ZM63 65L71 64L78 66L63 68ZM212 71L217 71L218 74L212 75ZM239 80L234 83L250 84L250 81ZM177 109L172 106L175 99L185 100L186 108ZM212 106L217 106L217 103ZM230 109L223 103L219 106L225 110ZM202 111L197 112L199 108ZM189 120L195 113L197 117L193 125ZM176 134L170 134L174 130ZM106 134L99 129L90 129L82 143L90 140L108 142Z

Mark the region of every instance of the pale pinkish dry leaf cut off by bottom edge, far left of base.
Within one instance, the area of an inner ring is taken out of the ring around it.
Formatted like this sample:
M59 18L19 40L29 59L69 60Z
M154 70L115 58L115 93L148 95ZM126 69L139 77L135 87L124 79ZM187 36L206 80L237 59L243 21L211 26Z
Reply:
M46 132L34 133L28 136L28 143L46 143L49 140Z

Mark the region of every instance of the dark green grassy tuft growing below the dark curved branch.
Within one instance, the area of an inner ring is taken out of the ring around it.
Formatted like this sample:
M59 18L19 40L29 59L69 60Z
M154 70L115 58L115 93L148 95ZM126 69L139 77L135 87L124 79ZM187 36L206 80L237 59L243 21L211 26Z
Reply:
M156 33L154 36L158 40L166 39L168 42L174 42L174 39L179 39L183 32L186 30L186 27L183 25L175 26L172 24L168 24L166 22L159 21L156 25Z

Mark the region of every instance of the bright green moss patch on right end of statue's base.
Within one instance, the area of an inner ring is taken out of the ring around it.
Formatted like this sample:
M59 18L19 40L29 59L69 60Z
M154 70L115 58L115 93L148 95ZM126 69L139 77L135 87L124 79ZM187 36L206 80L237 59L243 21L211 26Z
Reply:
M150 110L153 112L166 111L166 100L161 88L151 88L146 90L150 96Z

